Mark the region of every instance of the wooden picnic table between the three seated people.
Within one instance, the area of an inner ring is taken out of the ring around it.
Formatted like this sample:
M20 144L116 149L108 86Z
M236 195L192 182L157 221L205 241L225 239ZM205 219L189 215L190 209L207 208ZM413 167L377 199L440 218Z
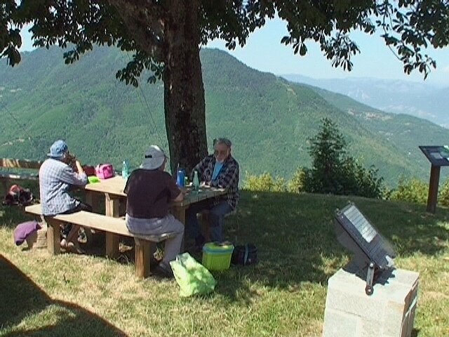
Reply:
M126 194L123 192L126 185L126 180L122 176L114 176L109 179L100 180L99 183L89 183L86 185L86 201L90 204L95 204L93 194L105 195L105 215L118 218L120 216L121 203L126 201ZM196 202L215 198L226 193L223 188L208 187L200 190L201 192L190 191L185 194L184 200L180 202L171 203L171 212L177 220L183 225L185 223L185 211L189 205ZM94 209L95 211L95 209ZM115 235L111 238L110 246L119 245L119 236Z

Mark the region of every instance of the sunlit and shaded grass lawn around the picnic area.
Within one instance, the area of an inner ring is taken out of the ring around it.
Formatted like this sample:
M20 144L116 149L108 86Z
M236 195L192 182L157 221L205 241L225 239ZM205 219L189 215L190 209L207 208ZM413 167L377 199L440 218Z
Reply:
M253 242L260 263L213 272L215 292L193 298L174 280L137 279L126 258L15 246L13 229L29 216L1 206L0 336L321 336L327 280L350 258L333 212L349 200L396 246L396 266L420 272L414 336L449 336L448 209L245 191L226 236Z

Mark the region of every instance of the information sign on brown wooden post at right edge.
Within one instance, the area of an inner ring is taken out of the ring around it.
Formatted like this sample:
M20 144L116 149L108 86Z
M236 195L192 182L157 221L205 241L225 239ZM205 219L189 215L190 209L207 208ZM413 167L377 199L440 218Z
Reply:
M427 211L435 213L438 198L438 184L441 166L449 166L449 147L442 145L420 146L420 150L430 161L429 194L427 196Z

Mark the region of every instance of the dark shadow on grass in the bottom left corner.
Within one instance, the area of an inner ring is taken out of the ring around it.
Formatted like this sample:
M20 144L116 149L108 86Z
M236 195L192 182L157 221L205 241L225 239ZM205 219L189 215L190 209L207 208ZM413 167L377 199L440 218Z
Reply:
M79 305L53 300L4 256L0 256L0 274L1 336L67 336L67 331L72 337L127 336ZM33 319L34 324L27 324ZM29 330L29 325L42 327Z

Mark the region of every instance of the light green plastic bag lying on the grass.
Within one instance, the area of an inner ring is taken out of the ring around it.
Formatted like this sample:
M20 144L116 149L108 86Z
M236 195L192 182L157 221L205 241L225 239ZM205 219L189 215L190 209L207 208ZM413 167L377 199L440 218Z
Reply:
M215 289L217 282L213 275L189 253L176 256L176 260L171 261L170 265L176 282L180 285L180 296L211 293Z

